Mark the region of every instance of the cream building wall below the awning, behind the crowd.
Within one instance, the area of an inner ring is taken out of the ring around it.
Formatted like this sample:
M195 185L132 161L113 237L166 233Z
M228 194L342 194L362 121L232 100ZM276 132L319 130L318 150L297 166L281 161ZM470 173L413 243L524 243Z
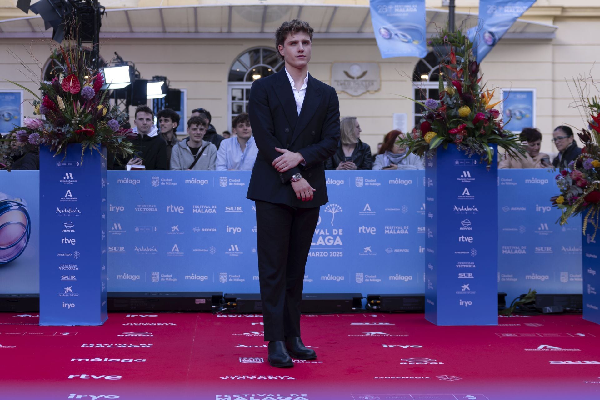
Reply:
M544 134L542 151L553 153L550 142L553 128L569 124L584 127L577 109L569 107L573 99L565 79L589 74L600 52L598 19L557 18L559 26L554 40L502 40L485 58L481 69L488 88L535 88L537 91L537 127ZM133 40L113 39L101 47L101 55L110 59L118 52L133 61L142 77L167 76L173 88L187 89L188 113L195 107L205 107L212 113L217 131L227 129L227 76L235 58L256 46L274 47L271 40ZM25 71L7 50L16 53L40 77L40 65L31 59L28 50L43 64L50 53L44 41L0 41L0 78L16 80L37 92L36 83L28 80ZM340 93L342 116L354 115L362 127L361 139L371 148L392 129L392 113L407 113L412 128L413 104L399 95L412 96L410 80L416 58L382 59L373 40L315 40L310 73L329 83L333 62L378 62L381 89L375 93L352 97ZM598 77L600 65L592 70ZM0 82L0 89L14 89ZM498 92L497 92L498 93ZM32 96L25 94L26 100ZM133 111L133 107L132 110ZM31 115L30 106L25 114ZM180 131L181 133L181 131Z

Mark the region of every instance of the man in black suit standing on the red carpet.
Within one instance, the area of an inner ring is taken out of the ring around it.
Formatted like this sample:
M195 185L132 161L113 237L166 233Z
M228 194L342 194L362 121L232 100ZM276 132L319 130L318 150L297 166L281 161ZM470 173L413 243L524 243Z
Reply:
M259 154L248 187L256 201L260 296L272 366L315 359L300 338L300 302L319 207L327 203L324 161L337 149L335 89L308 74L313 28L284 22L276 47L285 68L256 80L248 113Z

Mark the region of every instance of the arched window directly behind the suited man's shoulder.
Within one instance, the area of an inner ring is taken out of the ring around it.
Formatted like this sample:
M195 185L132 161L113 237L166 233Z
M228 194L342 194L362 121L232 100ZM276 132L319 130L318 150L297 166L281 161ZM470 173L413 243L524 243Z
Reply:
M227 85L227 125L231 130L231 121L235 116L248 112L248 98L252 82L272 75L283 68L284 62L277 57L275 49L255 47L247 50L233 61L229 70Z

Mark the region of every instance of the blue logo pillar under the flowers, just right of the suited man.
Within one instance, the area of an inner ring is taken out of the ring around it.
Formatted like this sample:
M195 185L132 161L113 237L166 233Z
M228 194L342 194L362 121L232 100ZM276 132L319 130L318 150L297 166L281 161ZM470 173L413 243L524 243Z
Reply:
M488 168L455 145L425 168L425 318L497 325L497 152Z

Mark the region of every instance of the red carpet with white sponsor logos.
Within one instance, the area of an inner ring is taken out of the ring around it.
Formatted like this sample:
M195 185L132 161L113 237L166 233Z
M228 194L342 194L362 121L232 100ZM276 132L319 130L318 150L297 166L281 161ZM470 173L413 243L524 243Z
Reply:
M20 315L20 316L19 316ZM319 358L266 362L260 315L0 314L0 399L600 399L600 326L580 315L437 327L422 314L303 315Z

